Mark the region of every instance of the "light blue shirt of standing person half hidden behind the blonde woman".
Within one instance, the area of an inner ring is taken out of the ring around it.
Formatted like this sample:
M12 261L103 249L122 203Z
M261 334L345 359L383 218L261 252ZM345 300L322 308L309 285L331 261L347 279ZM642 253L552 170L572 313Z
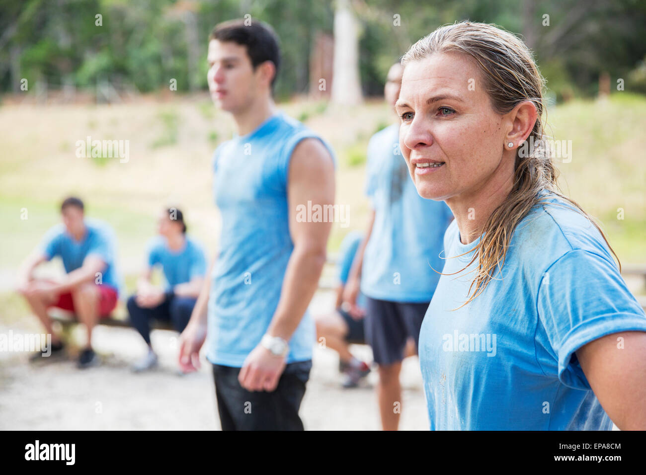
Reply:
M370 139L366 174L375 222L364 251L361 291L372 299L428 302L444 265L439 255L451 210L417 193L399 151L399 124Z

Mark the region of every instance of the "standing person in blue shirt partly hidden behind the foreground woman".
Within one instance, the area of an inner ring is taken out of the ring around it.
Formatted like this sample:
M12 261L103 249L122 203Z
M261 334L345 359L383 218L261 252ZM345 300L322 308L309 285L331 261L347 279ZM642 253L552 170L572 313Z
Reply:
M384 96L395 106L402 66L388 71ZM366 295L366 339L379 366L377 397L382 428L397 430L401 404L399 373L407 342L417 344L419 329L439 279L442 238L453 218L442 202L424 200L408 177L399 150L399 124L377 132L368 143L366 195L368 231L346 286L344 300L357 305Z

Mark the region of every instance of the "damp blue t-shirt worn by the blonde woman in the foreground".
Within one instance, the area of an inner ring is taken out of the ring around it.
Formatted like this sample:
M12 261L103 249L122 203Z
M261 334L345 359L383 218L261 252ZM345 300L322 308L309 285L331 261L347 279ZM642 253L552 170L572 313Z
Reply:
M419 336L432 430L612 429L575 352L604 335L646 331L646 316L596 227L544 196L550 203L518 224L483 293L451 311L466 302L477 260L437 285ZM453 222L443 273L464 268L480 239L461 244Z

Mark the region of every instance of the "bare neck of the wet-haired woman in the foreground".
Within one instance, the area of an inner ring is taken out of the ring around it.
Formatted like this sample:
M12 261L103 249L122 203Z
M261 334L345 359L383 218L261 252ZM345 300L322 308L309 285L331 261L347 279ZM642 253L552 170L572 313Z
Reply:
M480 237L486 220L509 196L513 186L514 160L501 160L485 182L446 200L455 216L462 244L469 244Z

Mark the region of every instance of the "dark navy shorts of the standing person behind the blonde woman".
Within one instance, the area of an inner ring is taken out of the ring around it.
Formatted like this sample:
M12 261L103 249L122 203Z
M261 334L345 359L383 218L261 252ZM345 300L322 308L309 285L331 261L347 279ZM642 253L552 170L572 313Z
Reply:
M375 363L387 365L404 359L408 338L419 341L428 304L391 302L366 297L366 341Z

